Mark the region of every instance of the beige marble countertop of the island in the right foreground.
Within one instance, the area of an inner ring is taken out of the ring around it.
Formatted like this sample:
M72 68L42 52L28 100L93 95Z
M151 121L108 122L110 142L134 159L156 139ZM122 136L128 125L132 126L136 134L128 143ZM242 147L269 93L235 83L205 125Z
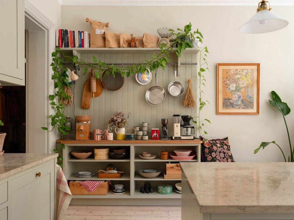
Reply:
M180 163L201 213L294 213L294 163Z

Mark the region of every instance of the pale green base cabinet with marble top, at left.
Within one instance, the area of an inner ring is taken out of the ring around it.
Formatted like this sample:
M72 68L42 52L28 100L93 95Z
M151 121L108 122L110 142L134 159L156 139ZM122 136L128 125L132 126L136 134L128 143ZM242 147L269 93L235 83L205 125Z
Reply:
M0 220L54 220L58 154L0 157Z

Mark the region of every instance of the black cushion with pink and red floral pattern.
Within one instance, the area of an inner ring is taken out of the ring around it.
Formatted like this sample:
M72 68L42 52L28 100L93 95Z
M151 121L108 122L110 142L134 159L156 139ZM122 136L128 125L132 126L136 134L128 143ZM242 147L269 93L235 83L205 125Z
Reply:
M228 137L223 139L203 139L201 144L202 162L235 162L230 150Z

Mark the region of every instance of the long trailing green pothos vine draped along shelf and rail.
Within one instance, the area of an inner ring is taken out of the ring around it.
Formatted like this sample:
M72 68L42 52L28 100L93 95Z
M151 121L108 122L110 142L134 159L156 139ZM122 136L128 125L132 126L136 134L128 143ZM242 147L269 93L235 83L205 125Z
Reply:
M121 76L126 75L129 77L131 74L136 74L138 72L145 72L146 68L149 68L151 71L156 70L158 68L162 68L163 70L166 67L166 64L169 62L170 53L174 51L174 47L177 46L176 54L178 57L181 57L181 53L186 50L186 48L193 48L193 43L195 45L197 41L200 43L203 43L203 35L200 31L191 31L192 25L189 23L186 25L183 29L177 28L177 30L170 29L169 31L172 32L172 35L174 36L174 41L171 42L171 45L169 47L166 47L166 44L161 44L159 47L161 52L156 55L155 53L153 56L149 59L143 60L136 65L132 66L125 66L125 67L115 67L114 65L107 65L105 62L101 62L96 57L93 56L93 62L86 62L82 59L80 59L78 56L72 56L64 51L60 50L60 48L56 48L54 52L52 52L52 63L50 66L52 66L53 75L51 79L54 82L54 88L55 88L55 94L49 95L50 105L52 106L52 109L54 109L54 113L49 116L51 119L51 131L53 129L57 129L61 132L61 134L68 134L70 131L70 128L65 125L65 115L64 115L64 105L60 103L61 99L71 99L70 96L68 96L64 92L64 85L70 86L68 83L69 76L66 74L67 68L63 67L62 65L62 59L61 57L64 57L65 61L70 61L73 64L76 65L85 65L87 67L94 69L94 75L96 78L101 79L101 75L104 71L106 71L106 75L112 74L115 76L116 74L121 74ZM188 37L188 40L187 40ZM198 127L199 134L201 135L202 132L202 126L204 126L204 122L207 121L210 123L208 119L201 120L200 119L200 111L203 109L203 107L206 105L206 103L209 103L208 101L202 100L202 94L204 94L202 88L205 87L206 79L204 77L204 72L208 70L208 64L206 62L206 57L208 54L207 47L201 48L197 45L199 48L199 71L198 71L198 89L199 89L199 102L198 102L198 115L196 117L196 120L193 122ZM88 68L85 67L83 69L83 75L86 74L88 71ZM209 70L208 70L209 71ZM47 127L42 127L43 130L48 130ZM207 134L206 131L204 131L204 134ZM203 134L202 134L203 135ZM64 144L60 145L61 148L65 148ZM55 153L58 153L58 149L53 149ZM62 160L62 156L58 157L59 160ZM62 166L62 163L58 163L58 165Z

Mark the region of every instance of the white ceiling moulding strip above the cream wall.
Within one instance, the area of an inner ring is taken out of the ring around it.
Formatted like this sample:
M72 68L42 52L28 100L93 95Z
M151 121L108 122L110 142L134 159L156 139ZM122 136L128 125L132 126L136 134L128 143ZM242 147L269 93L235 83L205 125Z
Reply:
M56 0L61 5L84 6L258 6L259 0ZM261 1L261 0L260 0ZM294 6L294 0L269 1L270 6Z

